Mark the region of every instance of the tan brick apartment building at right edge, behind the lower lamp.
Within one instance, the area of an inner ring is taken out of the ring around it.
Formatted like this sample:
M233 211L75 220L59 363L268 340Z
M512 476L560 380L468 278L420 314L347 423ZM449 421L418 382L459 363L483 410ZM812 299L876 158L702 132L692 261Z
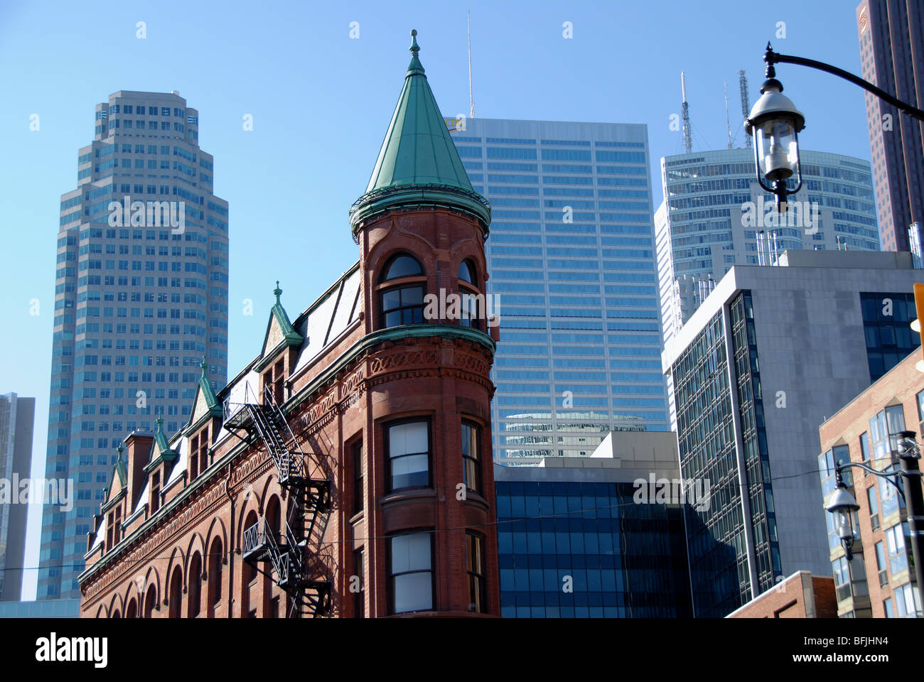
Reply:
M906 317L915 317L913 308ZM911 353L821 424L819 471L826 503L838 463L863 462L878 471L901 469L893 454L897 433L918 432L921 442L924 373L915 368L919 359L920 350ZM902 477L897 480L904 490ZM846 469L844 482L860 507L853 522L852 560L845 556L833 515L821 512L828 518L837 614L921 617L905 501L892 483L863 469Z

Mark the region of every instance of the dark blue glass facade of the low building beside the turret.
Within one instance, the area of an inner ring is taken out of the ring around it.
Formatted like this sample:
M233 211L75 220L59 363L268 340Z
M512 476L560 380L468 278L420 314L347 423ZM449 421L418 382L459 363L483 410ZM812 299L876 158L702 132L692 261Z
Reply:
M682 507L584 478L495 482L502 615L692 615Z

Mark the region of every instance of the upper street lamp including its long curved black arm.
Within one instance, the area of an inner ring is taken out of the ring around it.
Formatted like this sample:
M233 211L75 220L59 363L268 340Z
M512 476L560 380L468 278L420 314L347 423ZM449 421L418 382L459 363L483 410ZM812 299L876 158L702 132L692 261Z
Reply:
M783 94L783 83L776 79L774 64L797 64L803 67L817 68L849 80L866 91L872 92L883 102L892 104L907 116L924 121L924 110L902 102L888 92L877 88L867 80L854 76L843 68L833 67L824 62L794 55L781 55L773 52L770 43L763 54L767 65L767 79L760 86L760 99L745 120L748 135L754 137L754 164L760 187L776 195L776 210L786 212L786 197L795 194L802 187L802 174L799 168L798 133L805 128L805 116L796 109L788 97ZM796 176L796 189L789 191L786 180Z

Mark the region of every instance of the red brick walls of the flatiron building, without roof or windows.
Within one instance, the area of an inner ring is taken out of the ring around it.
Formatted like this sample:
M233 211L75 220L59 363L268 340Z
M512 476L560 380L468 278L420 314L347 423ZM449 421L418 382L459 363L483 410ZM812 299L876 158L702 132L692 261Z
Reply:
M415 325L415 335L383 331L376 294L383 264L396 252L419 259L428 291L441 286L458 291L455 275L459 263L468 259L481 274L475 286L483 292L483 238L474 219L448 209L384 214L359 231L359 300L362 311L371 314L357 315L339 339L295 371L298 347L277 343L284 334L271 315L267 350L251 363L250 371L264 368L261 392L284 394L283 408L298 444L316 456L332 483L326 527L319 528L318 537L309 543L309 554L314 548L318 555L315 577L331 581L330 615L357 615L349 591L350 578L356 575L366 577L365 615L389 613L386 536L407 530L435 530L434 615L470 613L466 532L478 533L485 541L487 613L499 614L489 455L492 339L483 321L475 331L462 330L451 321ZM294 326L298 325L297 321ZM483 338L478 342L473 336ZM388 494L383 424L417 416L431 423L432 486ZM482 487L480 493L468 491L466 499L459 500L463 419L480 427ZM190 425L170 444L185 457L160 457L163 453L151 434L128 437L125 482L116 472L109 501L103 505L103 517L128 521L119 536L104 539L91 552L81 582L81 615L286 615L291 598L271 578L254 576L241 558L243 530L261 518L278 524L280 510L291 504L272 457L259 439L250 441L241 442L223 430L222 417L209 413L201 394ZM362 506L371 513L353 513L358 505L350 454L358 443L366 453ZM158 458L163 458L159 464ZM154 477L167 481L172 467L183 459L186 475L168 484L162 499L152 503ZM197 464L200 470L194 470ZM148 506L139 508L144 491L148 498L141 505ZM159 511L152 512L153 505ZM134 509L140 513L132 516ZM361 571L354 565L359 550L365 563ZM190 600L198 600L198 609Z

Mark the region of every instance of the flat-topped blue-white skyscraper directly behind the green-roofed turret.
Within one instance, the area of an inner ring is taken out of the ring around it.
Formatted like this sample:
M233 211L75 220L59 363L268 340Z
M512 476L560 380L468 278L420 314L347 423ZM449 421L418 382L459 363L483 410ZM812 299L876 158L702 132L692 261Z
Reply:
M644 125L446 119L492 203L495 461L668 428Z

